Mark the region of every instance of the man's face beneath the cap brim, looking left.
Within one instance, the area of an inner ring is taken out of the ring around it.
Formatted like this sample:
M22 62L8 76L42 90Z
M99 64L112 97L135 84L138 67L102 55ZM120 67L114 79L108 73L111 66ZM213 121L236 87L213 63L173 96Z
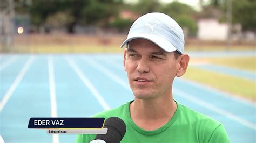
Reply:
M133 94L139 99L170 95L178 65L174 52L165 52L145 39L130 41L124 53L124 69Z

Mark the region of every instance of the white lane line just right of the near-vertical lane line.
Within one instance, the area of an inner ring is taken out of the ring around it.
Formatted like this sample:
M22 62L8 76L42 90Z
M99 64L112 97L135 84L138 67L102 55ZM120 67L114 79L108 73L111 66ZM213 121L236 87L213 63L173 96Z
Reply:
M65 57L66 61L68 61L69 65L76 71L76 74L79 78L84 82L86 87L92 92L95 98L98 100L100 105L102 105L104 110L109 110L110 106L106 103L105 99L99 94L98 90L93 86L90 80L83 74L82 70L77 66L77 64L70 59L69 57Z

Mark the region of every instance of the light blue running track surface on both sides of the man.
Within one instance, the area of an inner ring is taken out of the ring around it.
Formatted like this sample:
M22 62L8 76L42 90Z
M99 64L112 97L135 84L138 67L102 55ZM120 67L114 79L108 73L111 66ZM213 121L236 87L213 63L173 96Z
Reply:
M193 56L205 54L192 53ZM210 55L224 56L225 54L215 52ZM250 55L250 52L227 54L227 56L235 55ZM0 56L0 64L12 56L17 56L17 60L1 71L0 97L2 100L31 55ZM52 142L52 135L46 134L46 130L27 128L31 117L51 117L49 56L35 55L35 60L2 110L0 132L6 142ZM123 70L122 54L73 54L52 55L52 57L58 117L90 117L97 112L104 111L103 106L70 66L66 57L76 64L110 108L116 108L133 99L126 73ZM222 68L217 71L224 70ZM232 72L229 69L225 71ZM243 76L240 77L243 78ZM233 98L224 92L207 88L184 78L177 78L173 88L174 99L177 102L223 123L231 142L256 142L255 129L217 110L220 109L255 125L254 103ZM202 103L210 107L203 106ZM76 135L59 134L59 142L74 142L75 138Z

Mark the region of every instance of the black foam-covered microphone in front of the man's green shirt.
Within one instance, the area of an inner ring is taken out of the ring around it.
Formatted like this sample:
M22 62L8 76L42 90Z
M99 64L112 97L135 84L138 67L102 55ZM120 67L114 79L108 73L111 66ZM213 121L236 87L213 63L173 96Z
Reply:
M97 134L95 140L90 141L90 143L118 143L123 139L126 132L124 121L118 117L110 117L106 119L104 128L107 128L107 133Z

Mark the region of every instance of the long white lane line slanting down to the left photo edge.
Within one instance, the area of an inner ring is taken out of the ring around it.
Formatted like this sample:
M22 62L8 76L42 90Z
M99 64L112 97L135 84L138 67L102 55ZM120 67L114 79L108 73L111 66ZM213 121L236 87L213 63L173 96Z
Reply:
M17 77L15 78L14 82L11 84L11 87L6 92L2 101L0 102L0 112L2 112L2 110L4 108L4 105L8 102L9 98L14 93L14 91L17 88L19 82L21 82L23 76L26 74L26 71L29 69L29 67L30 67L30 65L31 65L31 63L33 62L34 59L35 58L33 56L31 56L29 58L29 60L26 61L25 65L23 66L21 71L19 71L19 73L18 73Z

